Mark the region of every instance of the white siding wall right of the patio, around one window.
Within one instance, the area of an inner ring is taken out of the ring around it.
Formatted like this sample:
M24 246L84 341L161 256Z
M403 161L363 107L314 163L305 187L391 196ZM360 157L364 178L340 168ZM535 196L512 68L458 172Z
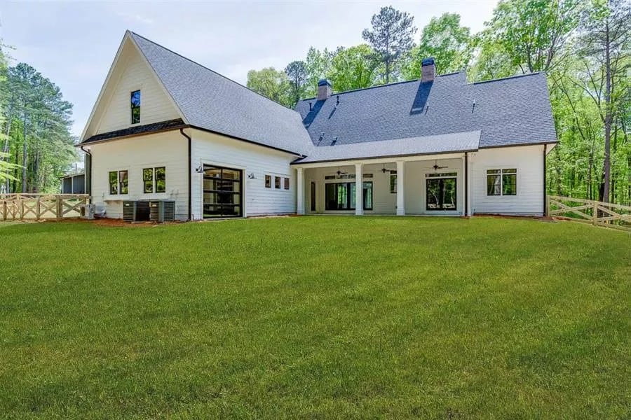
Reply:
M543 146L481 149L471 159L474 214L543 214ZM487 169L510 168L517 168L517 195L487 195Z

